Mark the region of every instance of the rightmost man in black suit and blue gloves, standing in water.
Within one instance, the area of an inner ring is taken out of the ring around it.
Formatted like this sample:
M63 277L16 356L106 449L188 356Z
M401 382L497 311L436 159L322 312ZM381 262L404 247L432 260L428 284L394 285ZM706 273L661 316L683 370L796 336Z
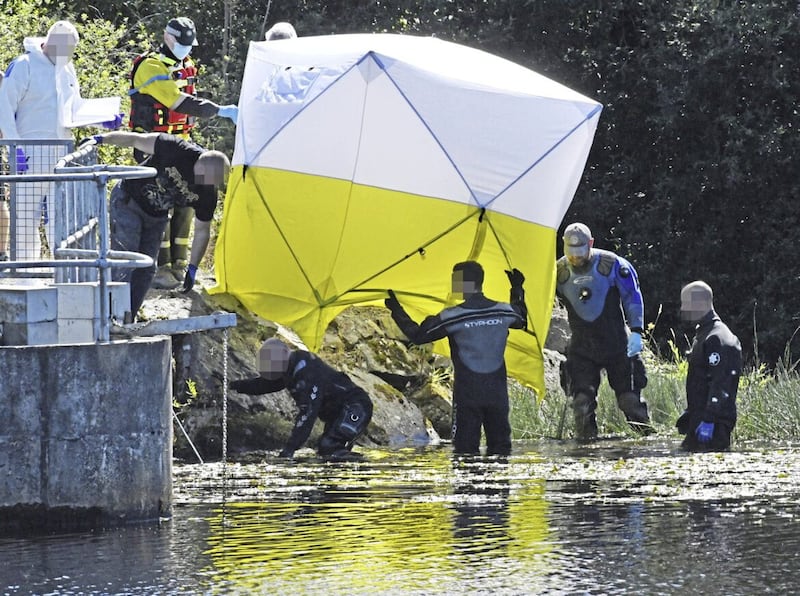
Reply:
M681 319L695 326L686 355L686 410L675 426L687 451L724 451L736 426L736 393L742 372L739 338L714 310L714 293L703 281L681 290Z

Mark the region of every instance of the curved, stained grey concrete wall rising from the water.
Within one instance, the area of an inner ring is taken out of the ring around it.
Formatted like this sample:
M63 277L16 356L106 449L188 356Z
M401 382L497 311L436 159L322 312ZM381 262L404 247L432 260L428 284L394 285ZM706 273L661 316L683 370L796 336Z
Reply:
M0 347L0 526L169 516L170 359L163 336Z

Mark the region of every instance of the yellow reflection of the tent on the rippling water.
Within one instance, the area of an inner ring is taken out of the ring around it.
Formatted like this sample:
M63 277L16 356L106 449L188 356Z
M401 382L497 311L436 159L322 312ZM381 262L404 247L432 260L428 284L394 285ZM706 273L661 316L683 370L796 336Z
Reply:
M428 455L263 466L258 501L232 494L208 520L214 575L250 592L387 593L547 572L544 480Z

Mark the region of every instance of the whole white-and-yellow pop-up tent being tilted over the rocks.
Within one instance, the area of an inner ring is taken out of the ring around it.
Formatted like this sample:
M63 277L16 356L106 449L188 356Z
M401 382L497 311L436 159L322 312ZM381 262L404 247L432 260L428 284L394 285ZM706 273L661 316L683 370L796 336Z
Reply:
M315 349L388 288L419 320L452 299L456 262L497 300L516 267L530 315L506 360L542 394L556 229L597 102L449 42L340 35L251 43L239 106L214 291Z

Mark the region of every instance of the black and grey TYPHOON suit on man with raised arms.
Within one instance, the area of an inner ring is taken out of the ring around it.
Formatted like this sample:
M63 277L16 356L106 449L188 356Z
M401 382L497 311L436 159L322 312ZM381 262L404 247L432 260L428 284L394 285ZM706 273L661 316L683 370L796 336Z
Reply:
M521 288L512 289L512 304L472 294L461 304L415 323L396 300L387 301L392 318L414 344L445 337L453 359L453 450L479 453L481 427L486 452L511 453L508 421L508 379L505 348L508 329L526 325L527 308Z

